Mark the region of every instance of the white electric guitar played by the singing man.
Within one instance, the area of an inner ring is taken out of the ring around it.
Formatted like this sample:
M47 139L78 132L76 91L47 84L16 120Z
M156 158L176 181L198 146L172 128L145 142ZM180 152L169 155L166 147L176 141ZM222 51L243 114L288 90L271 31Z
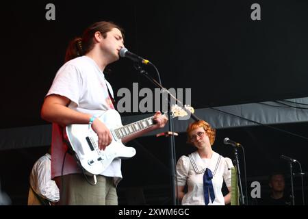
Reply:
M194 113L194 109L190 106L185 105L185 109ZM172 118L188 116L188 113L177 105L171 107L171 112ZM164 115L166 116L167 113L164 113ZM151 116L123 126L120 114L116 110L107 110L98 118L112 133L112 142L106 147L105 151L99 149L97 133L89 125L68 125L65 129L66 133L64 133L70 144L70 149L75 153L77 162L90 175L98 175L103 172L116 157L130 158L136 155L136 150L125 146L121 139L155 125L153 116Z

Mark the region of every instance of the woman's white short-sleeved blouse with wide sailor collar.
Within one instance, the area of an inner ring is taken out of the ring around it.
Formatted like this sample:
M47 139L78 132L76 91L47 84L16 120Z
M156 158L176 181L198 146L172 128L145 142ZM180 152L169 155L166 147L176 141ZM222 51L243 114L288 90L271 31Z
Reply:
M211 179L214 188L215 200L209 205L224 205L222 183L231 186L231 159L222 157L214 152L211 158L202 159L198 152L188 156L181 156L177 162L177 185L188 185L188 192L183 196L182 205L205 205L203 192L203 175L206 168L213 174Z

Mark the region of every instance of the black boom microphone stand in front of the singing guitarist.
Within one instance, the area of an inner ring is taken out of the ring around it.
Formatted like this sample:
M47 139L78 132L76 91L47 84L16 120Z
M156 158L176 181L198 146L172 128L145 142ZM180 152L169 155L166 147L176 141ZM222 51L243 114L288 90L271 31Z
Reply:
M153 65L153 64L152 64ZM188 113L188 115L190 115L194 120L200 120L198 117L196 117L192 112L190 112L189 110L187 110L184 106L183 103L181 103L181 101L179 101L178 99L175 98L175 96L173 96L166 88L164 88L162 86L162 84L158 83L155 79L153 79L153 77L151 77L143 68L141 68L141 66L139 64L135 64L134 67L136 68L136 70L138 71L138 73L140 73L140 75L143 75L144 77L146 77L147 79L149 79L149 81L151 81L157 88L162 89L162 92L166 92L167 95L167 99L166 101L168 102L168 121L169 121L169 131L170 133L174 133L173 131L173 121L171 118L171 105L170 105L170 99L175 99L175 101L177 101L177 104L183 108L183 110L185 110L185 112ZM177 202L177 173L175 170L175 136L174 135L169 135L169 153L170 153L170 178L171 178L171 194L172 194L172 205L178 205L179 203Z

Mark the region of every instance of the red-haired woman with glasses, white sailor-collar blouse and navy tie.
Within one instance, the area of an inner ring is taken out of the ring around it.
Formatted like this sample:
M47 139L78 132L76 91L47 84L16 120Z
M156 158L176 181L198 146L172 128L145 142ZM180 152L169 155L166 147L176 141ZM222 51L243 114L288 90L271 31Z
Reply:
M181 156L177 162L177 196L182 205L226 205L231 198L231 159L222 157L211 146L216 129L204 120L191 123L187 129L188 143L196 151ZM222 183L229 193L222 194ZM184 192L188 185L188 192Z

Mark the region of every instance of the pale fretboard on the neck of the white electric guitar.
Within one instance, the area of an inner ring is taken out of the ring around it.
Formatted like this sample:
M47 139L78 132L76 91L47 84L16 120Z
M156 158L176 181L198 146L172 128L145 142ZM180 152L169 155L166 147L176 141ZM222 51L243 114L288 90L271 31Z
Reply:
M114 133L116 133L116 137L118 139L124 138L126 136L129 136L133 133L136 133L137 131L142 131L144 129L147 129L149 127L152 127L154 125L154 116L145 118L143 120L140 120L136 123L131 123L129 125L125 125L123 127L120 127L118 129L114 129Z

